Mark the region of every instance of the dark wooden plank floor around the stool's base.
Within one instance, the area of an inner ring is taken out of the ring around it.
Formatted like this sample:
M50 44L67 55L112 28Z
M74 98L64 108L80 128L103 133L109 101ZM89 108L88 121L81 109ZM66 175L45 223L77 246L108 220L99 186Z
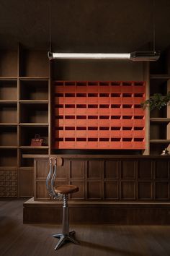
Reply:
M22 224L24 200L0 201L0 255L3 256L169 256L170 226L74 225L80 245L54 250L56 225Z

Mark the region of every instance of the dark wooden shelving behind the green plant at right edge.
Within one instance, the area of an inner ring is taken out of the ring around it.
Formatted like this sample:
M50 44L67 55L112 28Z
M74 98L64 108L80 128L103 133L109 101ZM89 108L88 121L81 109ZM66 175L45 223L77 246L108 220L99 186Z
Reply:
M161 93L166 95L170 89L169 67L167 56L161 54L161 58L156 63L150 65L150 95ZM150 154L160 155L164 148L170 145L170 108L154 109L150 115Z

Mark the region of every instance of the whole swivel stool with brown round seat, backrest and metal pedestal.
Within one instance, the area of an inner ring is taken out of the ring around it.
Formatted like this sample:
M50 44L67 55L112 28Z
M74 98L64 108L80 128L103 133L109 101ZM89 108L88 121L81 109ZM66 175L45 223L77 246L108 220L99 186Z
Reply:
M55 246L55 250L61 247L61 245L66 241L71 241L75 244L79 244L73 238L75 231L69 231L69 218L68 218L68 194L79 191L79 187L73 185L62 185L55 187L55 176L57 172L57 166L63 165L62 158L50 158L50 171L46 179L46 186L50 197L53 199L63 200L63 221L62 221L62 232L61 234L55 234L53 237L58 238L58 244Z

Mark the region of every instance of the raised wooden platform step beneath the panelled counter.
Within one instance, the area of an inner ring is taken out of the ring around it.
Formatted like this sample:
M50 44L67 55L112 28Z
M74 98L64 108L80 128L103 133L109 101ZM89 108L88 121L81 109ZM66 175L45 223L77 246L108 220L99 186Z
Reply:
M24 223L61 223L62 202L24 202ZM170 202L113 202L70 200L71 223L169 225Z

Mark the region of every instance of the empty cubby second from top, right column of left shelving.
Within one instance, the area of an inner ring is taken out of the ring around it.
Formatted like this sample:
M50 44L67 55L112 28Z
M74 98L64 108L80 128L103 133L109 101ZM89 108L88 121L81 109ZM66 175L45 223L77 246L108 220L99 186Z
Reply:
M20 80L19 99L48 101L48 80Z

